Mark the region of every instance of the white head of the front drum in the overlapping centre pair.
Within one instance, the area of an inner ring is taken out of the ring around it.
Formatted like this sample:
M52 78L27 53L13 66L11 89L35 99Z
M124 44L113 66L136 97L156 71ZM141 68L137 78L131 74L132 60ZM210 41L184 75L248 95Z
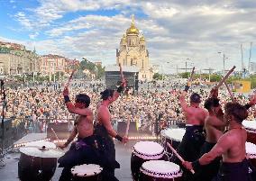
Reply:
M147 176L174 178L182 175L180 167L164 160L150 160L142 164L141 172Z

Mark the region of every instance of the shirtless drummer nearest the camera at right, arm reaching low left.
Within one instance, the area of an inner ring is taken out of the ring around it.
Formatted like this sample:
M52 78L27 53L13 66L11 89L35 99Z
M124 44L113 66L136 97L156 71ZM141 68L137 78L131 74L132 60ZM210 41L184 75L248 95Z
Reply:
M194 162L183 162L187 169L196 172L201 166L209 164L215 158L222 156L223 163L215 180L218 181L250 181L249 163L246 159L245 142L247 132L242 126L242 121L247 118L248 112L238 103L225 104L224 119L229 124L229 129L222 135L215 147Z

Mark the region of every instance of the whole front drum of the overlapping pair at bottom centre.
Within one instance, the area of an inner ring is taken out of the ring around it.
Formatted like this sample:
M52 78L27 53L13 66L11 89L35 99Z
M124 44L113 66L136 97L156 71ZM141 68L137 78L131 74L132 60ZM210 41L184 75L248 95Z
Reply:
M182 176L177 164L164 160L144 162L140 171L140 181L181 181Z

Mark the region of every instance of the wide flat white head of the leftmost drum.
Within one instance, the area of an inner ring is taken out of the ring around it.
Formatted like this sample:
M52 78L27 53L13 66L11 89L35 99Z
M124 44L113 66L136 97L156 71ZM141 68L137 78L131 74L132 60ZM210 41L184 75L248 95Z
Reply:
M20 151L31 157L39 158L59 158L64 155L64 151L58 149L41 149L35 147L22 147Z

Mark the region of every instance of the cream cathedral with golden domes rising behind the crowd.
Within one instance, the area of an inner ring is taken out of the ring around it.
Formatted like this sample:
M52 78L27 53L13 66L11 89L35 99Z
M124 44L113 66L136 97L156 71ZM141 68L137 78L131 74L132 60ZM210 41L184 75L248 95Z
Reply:
M153 71L149 60L149 51L146 48L146 40L135 27L134 17L131 27L123 34L119 50L116 50L116 65L119 63L123 67L139 68L139 80L152 80Z

